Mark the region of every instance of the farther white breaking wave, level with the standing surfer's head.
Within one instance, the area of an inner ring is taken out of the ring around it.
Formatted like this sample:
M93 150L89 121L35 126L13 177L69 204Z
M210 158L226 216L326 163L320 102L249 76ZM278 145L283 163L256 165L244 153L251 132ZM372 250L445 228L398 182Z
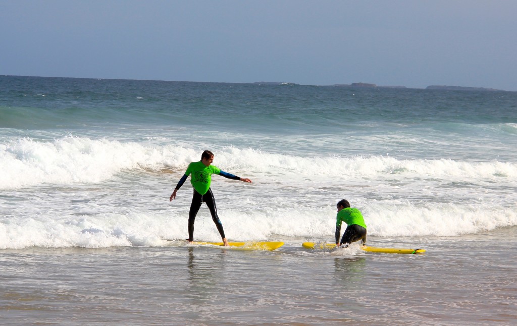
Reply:
M171 145L144 146L74 136L52 142L22 138L0 144L0 169L4 172L0 175L0 188L16 189L39 183L96 183L131 169L181 170L189 162L199 160L199 156L193 149ZM317 178L517 179L517 164L513 162L398 160L383 156L302 158L233 147L217 152L214 164L229 170L294 173Z

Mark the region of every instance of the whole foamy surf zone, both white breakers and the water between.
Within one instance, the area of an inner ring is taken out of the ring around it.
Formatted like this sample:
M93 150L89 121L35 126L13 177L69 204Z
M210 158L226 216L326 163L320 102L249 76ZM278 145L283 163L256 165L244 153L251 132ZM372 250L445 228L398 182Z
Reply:
M169 196L201 152L160 142L66 136L0 144L0 249L160 246L164 239L185 239L190 184L172 203ZM513 162L214 151L215 165L254 181L212 178L232 240L332 240L334 206L343 197L363 212L373 237L448 237L517 225ZM206 207L194 236L220 239Z

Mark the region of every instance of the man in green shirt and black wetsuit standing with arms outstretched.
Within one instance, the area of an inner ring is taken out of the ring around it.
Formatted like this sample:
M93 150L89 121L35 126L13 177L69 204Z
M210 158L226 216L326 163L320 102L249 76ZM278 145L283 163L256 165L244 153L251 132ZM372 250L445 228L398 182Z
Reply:
M206 203L208 209L210 210L210 214L212 215L212 220L216 224L217 230L223 239L223 243L225 246L229 245L228 240L224 236L223 225L219 220L219 216L217 216L217 208L216 208L216 200L214 198L214 194L212 194L212 190L210 189L211 175L218 174L225 178L240 180L244 182L251 183L251 180L248 178L240 178L234 176L233 174L226 173L221 171L217 166L210 165L214 161L214 154L211 151L205 150L203 154L201 154L201 161L191 162L185 172L185 175L181 177L174 192L171 195L170 201L176 198L176 193L179 188L185 183L187 177L192 174L190 178L190 183L192 187L194 187L194 194L192 196L192 203L190 204L189 211L189 223L188 223L188 231L189 238L187 241L192 243L194 240L194 220L197 212L199 211L201 204Z

